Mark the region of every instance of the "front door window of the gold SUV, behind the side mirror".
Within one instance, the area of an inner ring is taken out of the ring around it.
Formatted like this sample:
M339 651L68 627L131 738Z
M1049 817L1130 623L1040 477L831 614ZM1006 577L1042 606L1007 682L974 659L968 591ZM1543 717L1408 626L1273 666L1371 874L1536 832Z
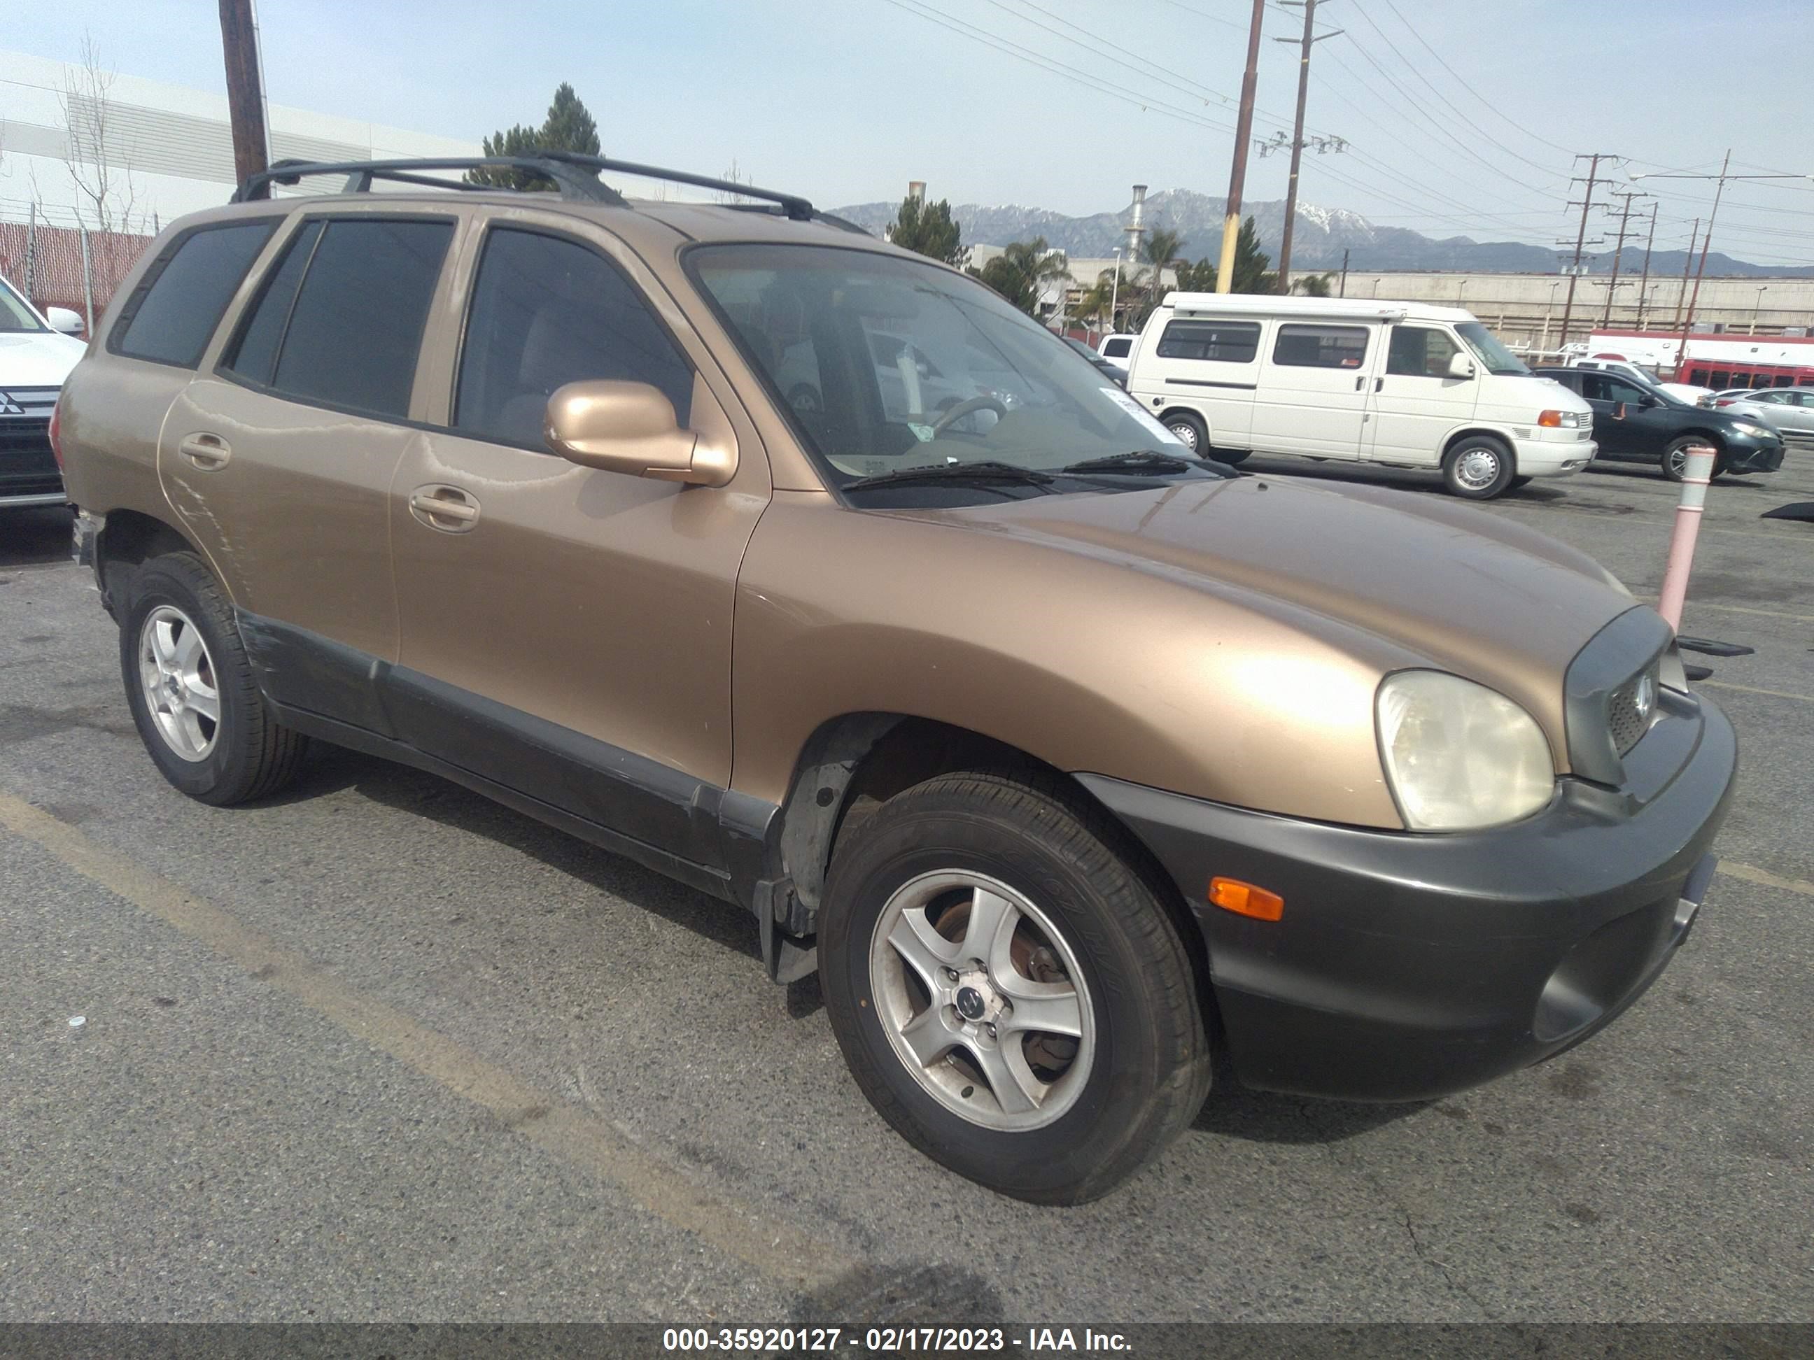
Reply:
M686 428L693 366L637 287L591 247L493 227L466 316L454 428L546 452L548 397L568 383L658 388Z

